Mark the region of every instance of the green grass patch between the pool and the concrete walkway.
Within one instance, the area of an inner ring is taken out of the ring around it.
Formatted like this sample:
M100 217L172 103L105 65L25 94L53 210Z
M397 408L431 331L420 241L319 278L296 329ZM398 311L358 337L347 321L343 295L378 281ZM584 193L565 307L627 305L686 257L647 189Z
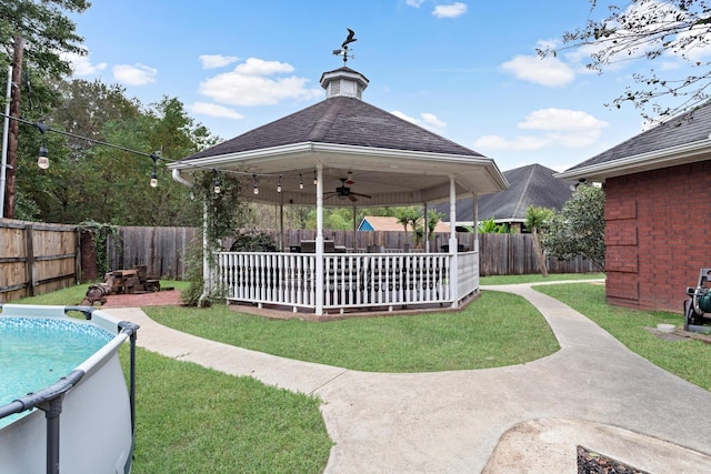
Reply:
M137 360L133 474L323 472L318 399L140 349Z

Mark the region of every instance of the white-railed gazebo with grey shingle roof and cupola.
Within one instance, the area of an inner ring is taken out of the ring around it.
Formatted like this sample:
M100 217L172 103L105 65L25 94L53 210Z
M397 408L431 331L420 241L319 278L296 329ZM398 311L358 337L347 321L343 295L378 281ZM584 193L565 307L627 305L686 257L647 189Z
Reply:
M280 252L219 252L206 281L229 302L286 306L316 315L430 304L458 307L479 291L478 248L464 251L452 228L447 252L344 249L324 239L324 206L398 206L495 193L508 183L492 159L362 101L368 79L326 72L326 100L169 164L173 179L219 169L253 180L254 201L314 205L317 235ZM455 221L454 221L455 222ZM477 215L472 224L475 229ZM477 242L477 239L474 239Z

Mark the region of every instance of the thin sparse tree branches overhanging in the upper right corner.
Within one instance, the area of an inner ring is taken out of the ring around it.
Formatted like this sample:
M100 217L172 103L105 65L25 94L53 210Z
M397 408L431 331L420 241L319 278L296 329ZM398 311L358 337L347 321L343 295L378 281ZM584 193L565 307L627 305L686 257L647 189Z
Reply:
M592 17L598 1L590 0L590 3ZM708 54L704 57L703 52L708 50L710 37L711 3L708 0L632 0L624 2L624 8L609 6L604 18L590 19L585 27L565 32L561 48L541 49L539 54L555 56L580 49L590 53L587 67L600 73L622 61L660 58L682 61L690 69L660 65L658 70L650 67L649 72L634 73L639 90L628 87L611 103L620 108L631 102L642 110L651 105L658 120L709 99L711 62L704 59ZM662 105L663 98L670 98L675 105ZM651 119L648 113L642 114Z

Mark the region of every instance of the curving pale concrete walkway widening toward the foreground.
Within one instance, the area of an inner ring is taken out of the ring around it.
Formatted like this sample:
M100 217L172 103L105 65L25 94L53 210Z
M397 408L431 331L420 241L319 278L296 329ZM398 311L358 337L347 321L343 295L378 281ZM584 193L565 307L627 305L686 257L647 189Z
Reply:
M529 300L561 350L499 369L365 373L207 341L138 309L107 312L140 324L150 351L318 395L336 443L330 474L577 473L578 444L654 474L711 473L711 392L529 284L482 290Z

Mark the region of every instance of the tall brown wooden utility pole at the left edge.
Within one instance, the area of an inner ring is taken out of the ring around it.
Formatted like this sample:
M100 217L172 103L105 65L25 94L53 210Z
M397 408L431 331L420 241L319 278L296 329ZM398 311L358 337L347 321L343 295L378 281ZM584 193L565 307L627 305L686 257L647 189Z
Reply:
M22 83L22 50L24 40L14 37L14 53L12 54L12 92L10 93L10 118L20 118L20 84ZM20 122L10 120L10 134L8 137L8 168L6 170L4 213L7 219L14 219L14 178L18 168L18 135Z

